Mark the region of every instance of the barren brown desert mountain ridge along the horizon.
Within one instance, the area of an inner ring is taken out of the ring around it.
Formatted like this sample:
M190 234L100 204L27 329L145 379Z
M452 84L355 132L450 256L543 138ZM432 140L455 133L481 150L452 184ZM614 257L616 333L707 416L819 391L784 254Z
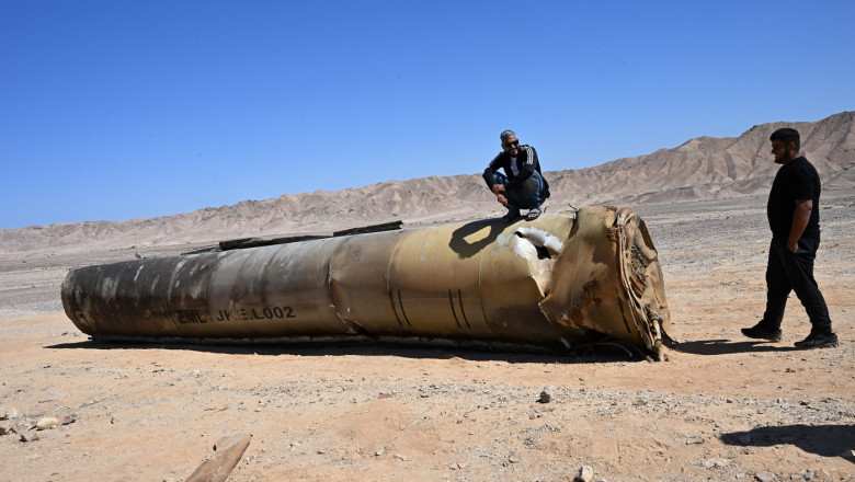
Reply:
M823 190L855 187L855 112L824 119L756 125L739 137L698 137L672 149L593 168L546 171L546 206L637 206L765 195L775 175L768 136L801 134L801 151ZM552 208L552 209L556 209ZM125 221L82 221L0 230L0 252L87 244L175 244L230 238L328 233L401 219L406 223L501 215L480 173L388 181L338 192L316 191L191 213Z

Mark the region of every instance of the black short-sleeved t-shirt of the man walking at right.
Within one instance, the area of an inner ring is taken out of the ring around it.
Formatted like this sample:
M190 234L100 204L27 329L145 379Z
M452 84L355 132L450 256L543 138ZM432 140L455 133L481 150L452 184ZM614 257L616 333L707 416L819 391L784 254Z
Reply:
M805 157L796 158L788 164L782 165L772 183L766 205L772 236L774 238L788 238L789 229L793 226L793 214L796 211L796 199L813 199L810 220L801 237L819 238L820 191L822 191L822 186L819 174Z

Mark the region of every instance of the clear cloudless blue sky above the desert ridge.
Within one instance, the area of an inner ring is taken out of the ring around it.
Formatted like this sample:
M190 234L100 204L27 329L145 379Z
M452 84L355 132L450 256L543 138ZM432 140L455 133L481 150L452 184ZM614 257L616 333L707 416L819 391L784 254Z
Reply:
M0 229L855 110L855 2L0 0Z

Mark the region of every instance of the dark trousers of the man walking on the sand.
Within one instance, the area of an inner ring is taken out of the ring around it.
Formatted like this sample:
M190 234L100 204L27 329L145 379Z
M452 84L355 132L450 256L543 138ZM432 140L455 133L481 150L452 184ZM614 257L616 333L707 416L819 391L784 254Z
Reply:
M819 241L819 238L800 239L799 249L791 253L785 239L772 239L766 265L766 312L763 313L763 324L767 328L780 328L787 297L790 291L796 291L813 325L811 333L831 333L829 308L813 279L813 260Z

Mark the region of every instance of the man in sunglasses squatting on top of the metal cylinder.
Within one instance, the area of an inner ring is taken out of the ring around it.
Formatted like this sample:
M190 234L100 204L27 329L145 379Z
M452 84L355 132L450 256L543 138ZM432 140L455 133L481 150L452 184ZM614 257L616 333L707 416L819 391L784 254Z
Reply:
M513 221L520 209L528 209L525 218L533 221L543 213L540 203L549 197L549 184L540 172L537 152L532 146L520 146L513 130L503 131L499 138L502 152L483 170L483 180L499 204L508 208L502 221ZM500 168L504 174L499 172Z

